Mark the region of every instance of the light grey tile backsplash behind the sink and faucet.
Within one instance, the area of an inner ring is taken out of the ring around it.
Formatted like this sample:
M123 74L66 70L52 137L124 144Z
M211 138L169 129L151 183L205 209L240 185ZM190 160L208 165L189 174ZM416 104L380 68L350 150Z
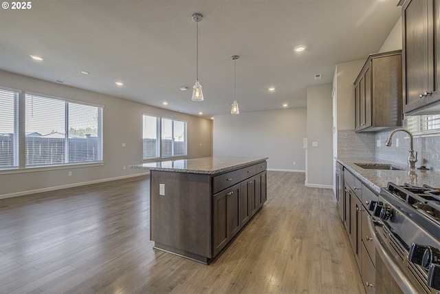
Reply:
M406 165L410 149L409 136L405 132L397 132L393 135L391 147L386 147L385 142L391 131L356 134L354 129L338 129L338 156L375 157ZM414 151L418 153L416 167L424 165L428 169L440 171L440 135L414 138Z

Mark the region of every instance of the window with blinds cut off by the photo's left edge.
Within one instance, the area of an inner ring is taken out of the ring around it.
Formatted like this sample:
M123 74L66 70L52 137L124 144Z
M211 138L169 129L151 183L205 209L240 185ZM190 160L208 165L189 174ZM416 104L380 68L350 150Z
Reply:
M19 167L19 92L0 89L0 169Z

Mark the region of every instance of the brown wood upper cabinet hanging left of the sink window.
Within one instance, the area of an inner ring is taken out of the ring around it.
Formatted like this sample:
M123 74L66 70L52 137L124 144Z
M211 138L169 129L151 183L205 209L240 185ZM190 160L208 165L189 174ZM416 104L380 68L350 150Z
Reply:
M355 80L355 131L401 126L401 50L371 54Z

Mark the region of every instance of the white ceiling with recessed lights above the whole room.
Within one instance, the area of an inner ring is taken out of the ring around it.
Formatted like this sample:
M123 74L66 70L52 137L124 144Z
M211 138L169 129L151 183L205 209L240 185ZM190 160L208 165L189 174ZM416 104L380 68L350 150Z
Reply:
M0 10L1 70L187 114L203 112L206 117L230 113L232 55L240 56L236 98L241 112L281 109L284 103L305 107L308 86L331 83L337 63L366 59L380 50L401 12L397 0L31 3L30 10ZM194 12L203 14L203 102L191 101L196 75ZM296 45L307 50L293 52ZM44 61L33 61L31 54ZM315 81L315 74L322 79ZM179 90L182 86L188 91ZM276 90L269 92L268 87Z

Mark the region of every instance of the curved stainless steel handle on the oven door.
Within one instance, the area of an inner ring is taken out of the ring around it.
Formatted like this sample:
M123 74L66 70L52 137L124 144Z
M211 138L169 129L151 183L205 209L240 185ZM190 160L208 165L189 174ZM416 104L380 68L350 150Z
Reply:
M404 293L418 293L419 291L417 288L412 285L405 273L401 271L399 265L394 262L390 251L382 244L380 236L375 229L372 216L369 216L369 229L373 237L373 242L375 244L377 253L379 253L382 262L384 262L386 269L388 269L388 271L391 273L391 276L395 282L400 286L401 291L404 291Z

